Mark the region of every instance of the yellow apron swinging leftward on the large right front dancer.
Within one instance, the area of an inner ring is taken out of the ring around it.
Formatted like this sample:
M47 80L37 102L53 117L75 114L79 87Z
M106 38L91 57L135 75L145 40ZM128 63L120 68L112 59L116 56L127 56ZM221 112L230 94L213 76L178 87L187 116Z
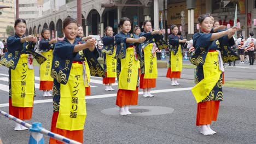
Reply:
M208 52L203 64L203 76L205 78L191 89L197 103L210 94L218 82L220 74L222 71L219 70L218 52Z

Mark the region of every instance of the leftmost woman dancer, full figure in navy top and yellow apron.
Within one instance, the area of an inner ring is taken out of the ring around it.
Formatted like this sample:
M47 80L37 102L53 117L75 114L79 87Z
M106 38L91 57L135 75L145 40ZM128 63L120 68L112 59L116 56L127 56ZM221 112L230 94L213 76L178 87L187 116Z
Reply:
M31 35L25 37L24 19L16 19L14 29L15 35L7 39L8 52L5 53L0 64L9 68L9 114L27 120L32 117L33 100L36 96L32 56L39 64L46 59L33 51L37 38ZM14 130L27 130L27 128L15 123Z

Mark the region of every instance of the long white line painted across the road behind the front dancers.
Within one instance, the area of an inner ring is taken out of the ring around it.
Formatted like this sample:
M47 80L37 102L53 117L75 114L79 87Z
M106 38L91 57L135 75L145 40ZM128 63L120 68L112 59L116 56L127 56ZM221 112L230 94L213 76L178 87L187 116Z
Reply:
M1 86L1 84L0 84ZM189 91L192 87L186 87L186 88L171 88L171 89L159 89L151 91L151 93L166 93L166 92L177 92L177 91ZM8 89L9 90L9 89ZM9 92L9 91L8 91ZM139 92L138 94L143 94L143 92ZM95 95L90 97L85 97L85 99L100 99L100 98L109 98L109 97L116 97L117 93L112 94L102 94L102 95ZM34 100L34 104L40 104L40 103L52 103L53 99L44 99L44 100ZM7 107L9 104L0 104L0 107Z

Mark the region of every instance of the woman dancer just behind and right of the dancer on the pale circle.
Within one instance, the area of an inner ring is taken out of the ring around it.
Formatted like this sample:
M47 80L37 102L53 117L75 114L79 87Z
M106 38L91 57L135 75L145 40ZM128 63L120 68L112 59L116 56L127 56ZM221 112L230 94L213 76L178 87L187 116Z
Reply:
M144 43L140 46L141 49L141 78L139 79L139 88L143 88L143 97L154 97L150 93L151 88L155 87L156 78L158 77L158 68L156 62L156 52L154 42L155 39L162 39L162 30L152 30L152 25L149 20L143 22L144 32L139 34L139 37L146 37Z

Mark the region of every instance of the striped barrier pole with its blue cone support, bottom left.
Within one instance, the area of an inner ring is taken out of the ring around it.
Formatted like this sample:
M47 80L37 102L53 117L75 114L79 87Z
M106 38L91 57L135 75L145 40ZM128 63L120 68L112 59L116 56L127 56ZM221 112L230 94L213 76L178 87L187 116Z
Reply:
M80 142L77 142L77 141L74 141L74 140L70 140L67 137L64 137L64 136L59 135L59 134L55 134L55 133L53 133L53 132L51 132L49 130L46 130L46 129L42 128L42 126L41 126L42 124L41 123L33 123L31 125L29 123L26 123L26 122L22 121L19 118L16 118L16 117L14 117L12 115L9 115L8 113L6 113L4 111L0 110L0 113L2 115L4 115L5 117L9 118L9 119L12 119L16 123L19 123L19 124L23 125L24 127L30 129L30 131L32 133L30 139L34 139L34 140L31 140L31 143L29 142L29 144L34 144L34 143L40 144L40 143L42 143L43 137L38 136L38 135L34 136L35 133L37 133L37 134L40 133L40 134L48 135L50 137L53 137L56 140L59 140L59 141L62 141L62 142L66 142L66 143L69 143L69 144L82 144ZM35 138L35 137L37 137L37 138ZM38 137L40 137L40 139L38 139Z

